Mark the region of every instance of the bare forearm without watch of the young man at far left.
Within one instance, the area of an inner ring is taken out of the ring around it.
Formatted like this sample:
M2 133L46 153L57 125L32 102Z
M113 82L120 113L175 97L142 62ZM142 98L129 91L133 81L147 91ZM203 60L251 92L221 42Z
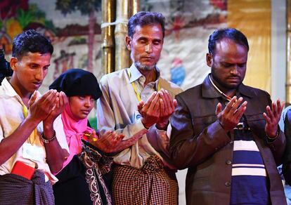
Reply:
M3 164L19 150L27 138L30 137L34 128L37 127L37 124L39 124L38 121L27 118L11 135L5 136L0 143L0 164Z

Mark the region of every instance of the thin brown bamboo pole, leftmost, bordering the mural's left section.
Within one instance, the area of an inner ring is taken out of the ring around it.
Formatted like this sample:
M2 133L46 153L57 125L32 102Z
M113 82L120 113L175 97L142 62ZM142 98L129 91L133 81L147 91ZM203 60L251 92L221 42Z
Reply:
M102 24L114 22L115 20L115 0L102 0ZM114 25L101 28L101 65L105 74L114 72Z

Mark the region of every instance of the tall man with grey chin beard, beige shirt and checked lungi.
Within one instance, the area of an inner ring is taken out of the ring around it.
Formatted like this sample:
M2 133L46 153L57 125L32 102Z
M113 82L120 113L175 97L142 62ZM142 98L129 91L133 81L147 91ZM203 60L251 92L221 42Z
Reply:
M115 204L178 204L176 169L169 160L169 117L181 88L160 77L156 67L164 42L161 13L139 12L129 19L127 48L131 67L101 79L97 101L101 133L111 130L138 141L114 161Z

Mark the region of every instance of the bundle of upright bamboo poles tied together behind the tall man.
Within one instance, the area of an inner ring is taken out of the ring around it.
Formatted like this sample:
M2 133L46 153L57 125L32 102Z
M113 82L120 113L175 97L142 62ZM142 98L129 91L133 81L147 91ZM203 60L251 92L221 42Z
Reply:
M137 13L139 9L140 0L102 0L101 64L105 74L129 67L131 64L125 43L127 22L130 16ZM114 20L115 27L114 25L105 25L114 22Z

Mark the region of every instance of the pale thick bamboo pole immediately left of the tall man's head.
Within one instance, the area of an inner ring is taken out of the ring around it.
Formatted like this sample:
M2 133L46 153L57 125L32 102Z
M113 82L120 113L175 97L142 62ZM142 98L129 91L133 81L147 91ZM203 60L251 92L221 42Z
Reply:
M129 51L125 44L127 20L129 19L129 1L117 0L115 26L115 70L129 67Z

